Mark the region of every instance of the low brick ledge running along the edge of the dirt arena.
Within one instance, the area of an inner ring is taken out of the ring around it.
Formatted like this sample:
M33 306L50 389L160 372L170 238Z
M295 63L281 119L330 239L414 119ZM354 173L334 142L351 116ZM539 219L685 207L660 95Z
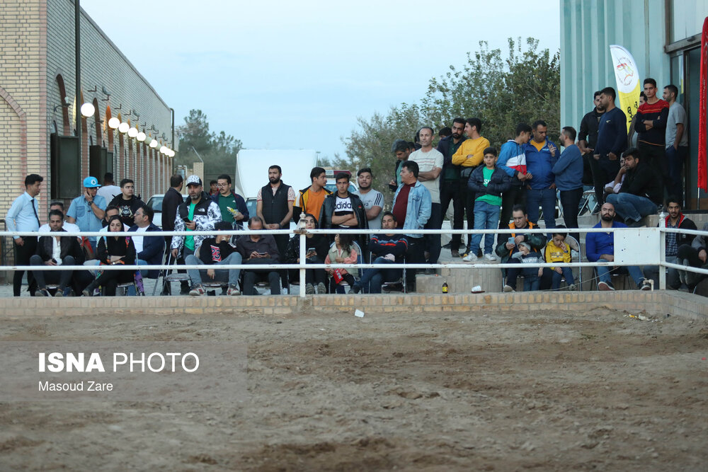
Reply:
M573 311L578 316L593 309L612 309L653 316L708 318L704 297L682 292L527 292L485 294L325 295L261 297L76 297L3 298L0 318L45 316L101 316L104 314L164 316L228 314L273 315L287 318L309 313L338 311L353 315L355 309L379 313L470 313L484 311Z

